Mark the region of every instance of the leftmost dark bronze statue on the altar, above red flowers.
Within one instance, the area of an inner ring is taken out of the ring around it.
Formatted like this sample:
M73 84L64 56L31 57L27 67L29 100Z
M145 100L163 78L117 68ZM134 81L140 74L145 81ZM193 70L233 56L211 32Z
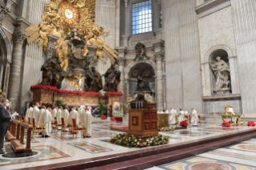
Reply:
M41 71L43 71L43 81L40 84L60 88L62 68L58 58L47 59Z

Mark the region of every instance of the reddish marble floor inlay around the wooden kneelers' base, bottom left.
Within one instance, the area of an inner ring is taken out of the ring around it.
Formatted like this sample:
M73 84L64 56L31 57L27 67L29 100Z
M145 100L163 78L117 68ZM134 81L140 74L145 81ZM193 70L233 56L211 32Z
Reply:
M25 158L4 158L0 156L0 166L14 165L14 164L25 164L32 162L39 162L43 160L56 160L71 157L64 152L59 151L52 147L51 145L43 145L31 147L34 152L38 152L35 156L25 157ZM0 168L1 169L1 168Z

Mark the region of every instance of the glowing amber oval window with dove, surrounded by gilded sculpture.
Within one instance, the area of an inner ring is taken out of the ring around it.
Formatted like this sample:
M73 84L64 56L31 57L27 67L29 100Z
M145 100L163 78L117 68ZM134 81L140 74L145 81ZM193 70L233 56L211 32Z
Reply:
M59 8L62 10L61 22L63 26L77 25L79 22L79 9L76 8L71 2L64 0L59 3Z

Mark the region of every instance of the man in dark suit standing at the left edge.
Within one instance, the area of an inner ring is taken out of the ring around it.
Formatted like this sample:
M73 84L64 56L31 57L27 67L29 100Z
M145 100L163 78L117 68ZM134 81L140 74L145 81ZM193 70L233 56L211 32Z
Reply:
M7 132L7 127L10 124L10 114L6 110L6 107L9 106L8 99L2 99L0 103L0 154L4 154L2 151L3 148L3 140Z

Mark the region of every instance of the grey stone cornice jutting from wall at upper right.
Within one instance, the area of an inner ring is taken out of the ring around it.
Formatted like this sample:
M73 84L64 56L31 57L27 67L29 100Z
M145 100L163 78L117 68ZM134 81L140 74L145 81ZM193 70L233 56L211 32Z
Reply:
M230 5L230 0L209 0L201 4L200 6L197 6L195 10L197 12L198 18L202 18L208 14L212 14L213 12L226 8L226 6Z

